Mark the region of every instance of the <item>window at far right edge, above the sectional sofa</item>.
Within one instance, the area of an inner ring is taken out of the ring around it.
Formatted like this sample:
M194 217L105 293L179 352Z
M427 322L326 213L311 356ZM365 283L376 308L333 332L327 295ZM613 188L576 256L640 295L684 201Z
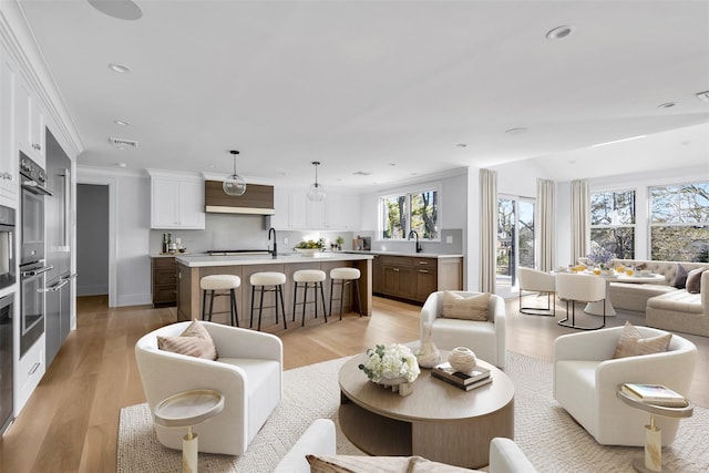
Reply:
M650 187L650 258L709 261L709 183Z

